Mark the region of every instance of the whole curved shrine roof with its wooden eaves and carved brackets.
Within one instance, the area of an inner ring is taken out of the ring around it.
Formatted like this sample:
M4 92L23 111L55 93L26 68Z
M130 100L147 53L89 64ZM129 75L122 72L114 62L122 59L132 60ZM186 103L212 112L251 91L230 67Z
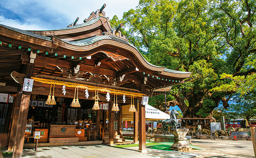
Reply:
M85 23L48 31L0 24L0 82L16 87L10 74L24 73L31 54L36 54L37 77L96 81L130 89L145 84L146 92L183 83L191 74L149 63L122 32L110 26L108 18L95 15Z

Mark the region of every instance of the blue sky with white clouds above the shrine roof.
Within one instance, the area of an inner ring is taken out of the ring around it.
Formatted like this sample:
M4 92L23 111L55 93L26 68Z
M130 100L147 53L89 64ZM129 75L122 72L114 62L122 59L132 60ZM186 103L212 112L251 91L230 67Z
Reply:
M118 2L118 3L117 3ZM139 0L1 0L0 24L23 30L51 30L65 28L79 17L83 23L91 12L106 3L104 12L112 19L135 9Z

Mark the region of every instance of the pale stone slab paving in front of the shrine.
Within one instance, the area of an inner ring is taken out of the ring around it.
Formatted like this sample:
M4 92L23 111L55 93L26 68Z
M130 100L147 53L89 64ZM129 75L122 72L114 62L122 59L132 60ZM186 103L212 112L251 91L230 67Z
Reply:
M156 149L147 149L147 153L140 153L103 144L95 146L39 147L37 152L33 149L24 149L22 154L23 158L192 158L198 156L200 155Z

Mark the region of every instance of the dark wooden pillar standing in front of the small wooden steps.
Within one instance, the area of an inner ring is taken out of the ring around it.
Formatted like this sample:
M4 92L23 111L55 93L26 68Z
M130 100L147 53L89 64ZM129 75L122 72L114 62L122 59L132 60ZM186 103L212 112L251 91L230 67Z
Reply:
M114 144L114 111L112 111L113 98L114 95L111 95L110 105L109 105L109 144Z

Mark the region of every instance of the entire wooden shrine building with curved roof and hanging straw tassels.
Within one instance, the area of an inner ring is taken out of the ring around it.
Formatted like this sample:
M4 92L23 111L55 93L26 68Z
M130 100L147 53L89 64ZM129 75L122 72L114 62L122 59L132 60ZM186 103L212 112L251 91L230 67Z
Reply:
M0 24L0 136L22 157L24 142L124 142L122 110L133 113L133 142L145 150L145 105L153 91L191 72L155 66L112 28L103 9L82 24L26 31ZM116 137L118 135L118 140ZM24 139L26 139L24 141Z

